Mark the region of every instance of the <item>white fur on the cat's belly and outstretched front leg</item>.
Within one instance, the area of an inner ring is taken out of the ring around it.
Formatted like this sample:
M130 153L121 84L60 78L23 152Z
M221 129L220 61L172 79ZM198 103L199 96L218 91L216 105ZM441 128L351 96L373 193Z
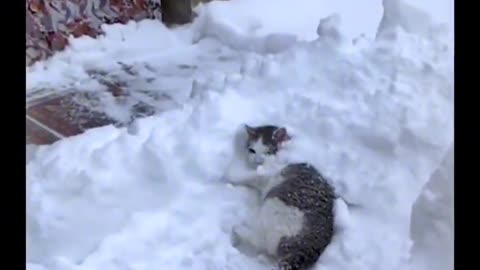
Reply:
M244 167L246 168L246 167ZM285 179L280 175L282 166L268 162L256 170L244 169L227 174L227 181L235 185L244 185L260 191L261 203L256 215L233 229L234 245L245 244L258 252L276 256L282 237L297 235L303 227L304 214L298 208L286 205L278 198L265 196Z

